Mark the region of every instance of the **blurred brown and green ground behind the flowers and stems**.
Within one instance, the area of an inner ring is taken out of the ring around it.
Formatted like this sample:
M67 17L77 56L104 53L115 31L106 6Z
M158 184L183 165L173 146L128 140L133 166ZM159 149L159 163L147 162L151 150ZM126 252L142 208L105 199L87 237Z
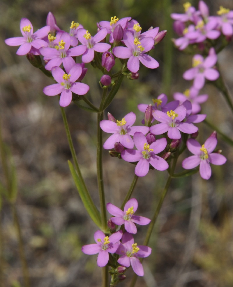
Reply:
M191 2L198 7L198 1ZM229 0L206 1L210 14L219 6L233 10ZM173 47L170 13L183 13L183 1L155 0L2 0L0 2L0 117L3 140L11 150L17 171L16 210L33 287L101 286L96 255L81 252L84 244L93 243L96 226L87 216L69 172L71 159L57 97L47 97L43 87L52 84L25 56L17 56L17 47L4 39L21 36L20 19L28 18L34 31L46 24L51 11L59 28L69 31L71 21L79 22L91 34L96 22L117 16L132 17L142 30L160 27L167 30L165 39L150 54L158 60L156 70L140 67L139 80L124 79L110 112L122 119L128 112L143 114L139 103L166 93L171 101L174 92L183 92L191 82L182 78L191 67L191 56ZM219 54L220 69L230 91L233 89L232 43ZM101 74L87 64L85 83L87 97L98 105L101 96ZM225 99L210 84L202 94L209 100L202 105L207 119L233 138L233 118ZM96 182L96 114L87 114L74 104L66 107L70 131L87 186L98 205ZM105 115L106 119L106 115ZM204 143L213 131L200 123L197 140ZM108 135L104 134L104 139ZM233 286L233 149L218 136L219 149L227 157L223 166L212 166L212 177L203 180L199 174L173 180L163 204L149 246L153 251L144 260L143 278L136 286L150 287L232 287ZM134 166L104 155L106 202L120 206L134 177ZM185 152L177 164L190 155ZM0 167L1 168L1 167ZM4 183L2 168L1 182ZM134 197L138 213L151 218L165 182L166 172L149 171L138 180ZM24 286L18 248L17 229L10 204L1 199L1 286ZM110 215L109 215L110 216ZM146 226L138 226L135 242L142 244ZM129 286L133 271L126 273L119 286Z

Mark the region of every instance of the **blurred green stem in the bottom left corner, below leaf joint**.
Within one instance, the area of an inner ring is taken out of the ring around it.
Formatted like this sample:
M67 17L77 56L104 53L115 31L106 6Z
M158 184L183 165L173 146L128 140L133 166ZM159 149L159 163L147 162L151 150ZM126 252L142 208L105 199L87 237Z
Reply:
M23 271L23 278L24 278L24 286L30 287L29 270L28 270L27 260L26 260L25 251L24 251L24 243L23 243L19 218L18 218L17 210L14 204L11 205L11 208L12 208L14 223L15 223L16 232L17 232L20 260L22 264L22 271Z

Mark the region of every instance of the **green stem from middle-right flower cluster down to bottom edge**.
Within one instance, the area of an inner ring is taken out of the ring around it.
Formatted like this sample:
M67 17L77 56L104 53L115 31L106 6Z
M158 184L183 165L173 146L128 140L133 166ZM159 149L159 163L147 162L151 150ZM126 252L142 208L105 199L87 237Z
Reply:
M162 205L163 205L164 198L165 198L165 196L167 195L168 188L169 188L169 186L170 186L170 184L171 184L171 181L172 181L172 175L174 174L174 171L175 171L175 167L176 167L176 162L177 162L177 159L178 159L178 155L179 155L179 151L176 152L176 157L175 157L174 160L173 160L172 168L171 168L171 171L170 171L170 175L169 175L169 177L168 177L168 179L167 179L167 182L166 182L166 184L165 184L165 187L164 187L164 189L163 189L163 192L162 192L162 195L161 195L160 200L159 200L159 202L158 202L158 205L157 205L157 207L156 207L154 216L153 216L153 218L152 218L152 220L151 220L151 222L150 222L150 224L149 224L149 227L148 227L148 229L147 229L146 237L145 237L145 240L144 240L143 245L148 245L148 243L149 243L149 239L150 239L150 237L151 237L153 228L154 228L155 223L156 223L156 221L157 221L157 218L158 218L160 209L161 209L161 207L162 207ZM142 260L143 260L143 259L141 259L140 261L142 262ZM136 281L137 281L137 277L138 277L138 276L137 276L136 274L133 276L133 279L132 279L132 281L131 281L130 287L134 287L134 286L135 286L135 283L136 283Z

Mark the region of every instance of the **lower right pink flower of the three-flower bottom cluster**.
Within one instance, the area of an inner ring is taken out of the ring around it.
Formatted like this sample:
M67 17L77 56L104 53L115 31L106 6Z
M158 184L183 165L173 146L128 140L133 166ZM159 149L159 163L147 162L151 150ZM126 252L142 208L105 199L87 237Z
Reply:
M121 238L121 244L116 251L117 254L122 255L117 262L125 267L133 268L133 271L138 276L144 275L142 263L138 258L145 258L151 254L151 248L145 245L137 245L134 243L133 235L125 232Z

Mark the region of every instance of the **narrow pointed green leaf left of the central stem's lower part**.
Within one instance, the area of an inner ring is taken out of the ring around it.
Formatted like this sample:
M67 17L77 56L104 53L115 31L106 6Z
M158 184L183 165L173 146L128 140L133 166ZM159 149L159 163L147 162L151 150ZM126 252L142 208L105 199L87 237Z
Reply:
M85 189L83 188L82 181L78 177L73 164L69 160L68 160L68 164L69 164L70 172L71 172L71 175L73 177L75 186L77 188L77 191L80 195L80 198L83 202L85 209L87 210L87 212L88 212L89 216L91 217L91 219L93 220L93 222L99 228L101 228L100 212L98 211L98 209L94 205L93 201L87 197L87 195L85 193Z

